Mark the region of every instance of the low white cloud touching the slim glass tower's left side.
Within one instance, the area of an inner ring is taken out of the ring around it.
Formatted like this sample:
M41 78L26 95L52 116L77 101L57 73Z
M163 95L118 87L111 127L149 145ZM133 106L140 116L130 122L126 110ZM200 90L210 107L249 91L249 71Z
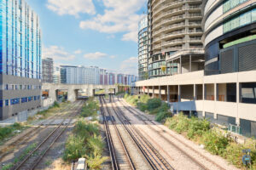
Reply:
M119 71L125 74L137 75L137 57L124 60L120 65Z

